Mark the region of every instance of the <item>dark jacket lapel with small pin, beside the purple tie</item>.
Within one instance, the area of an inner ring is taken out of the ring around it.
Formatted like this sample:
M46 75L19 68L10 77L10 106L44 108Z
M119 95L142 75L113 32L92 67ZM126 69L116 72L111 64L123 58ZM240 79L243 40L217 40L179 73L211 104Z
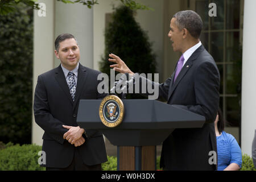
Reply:
M177 76L175 82L174 82L174 75L172 74L172 84L170 85L169 92L168 92L168 101L170 100L172 93L174 92L177 85L179 85L179 82L182 80L182 78L185 76L185 74L188 72L188 70L192 67L193 61L197 59L197 57L200 55L200 53L204 50L204 46L201 45L199 48L196 49L195 52L192 53L192 55L189 57L187 62L182 67L179 75ZM176 69L175 69L176 72ZM174 72L174 73L175 73Z

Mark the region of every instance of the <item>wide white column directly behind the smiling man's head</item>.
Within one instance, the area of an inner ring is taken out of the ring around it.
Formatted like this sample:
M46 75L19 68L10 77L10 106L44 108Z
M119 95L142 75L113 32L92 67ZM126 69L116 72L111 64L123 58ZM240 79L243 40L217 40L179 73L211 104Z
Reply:
M55 38L63 33L74 35L80 47L80 63L93 68L93 7L55 2ZM55 67L59 64L55 58Z

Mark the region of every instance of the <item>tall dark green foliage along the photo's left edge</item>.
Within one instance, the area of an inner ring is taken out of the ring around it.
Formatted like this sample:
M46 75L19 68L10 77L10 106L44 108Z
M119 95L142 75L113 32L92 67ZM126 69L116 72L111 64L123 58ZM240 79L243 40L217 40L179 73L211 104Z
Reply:
M0 140L31 143L33 11L0 16Z

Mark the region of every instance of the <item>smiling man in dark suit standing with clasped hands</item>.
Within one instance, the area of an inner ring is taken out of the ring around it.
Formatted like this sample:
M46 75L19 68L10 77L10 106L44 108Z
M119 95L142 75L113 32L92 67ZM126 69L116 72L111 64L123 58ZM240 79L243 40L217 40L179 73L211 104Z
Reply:
M35 88L35 122L44 130L42 150L47 170L101 170L106 162L102 134L82 129L76 117L80 99L101 99L97 92L100 72L79 63L75 37L61 34L55 40L59 67L38 76Z

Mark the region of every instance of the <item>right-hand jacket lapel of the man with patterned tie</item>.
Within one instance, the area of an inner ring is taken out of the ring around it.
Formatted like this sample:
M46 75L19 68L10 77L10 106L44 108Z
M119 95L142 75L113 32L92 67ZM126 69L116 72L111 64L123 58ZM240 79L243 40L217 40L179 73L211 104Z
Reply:
M76 106L77 102L79 101L80 94L85 85L86 76L87 76L86 68L79 63L79 70L78 70L77 84L76 84L76 94L75 94L75 101L74 101L73 109L75 109L75 106Z

